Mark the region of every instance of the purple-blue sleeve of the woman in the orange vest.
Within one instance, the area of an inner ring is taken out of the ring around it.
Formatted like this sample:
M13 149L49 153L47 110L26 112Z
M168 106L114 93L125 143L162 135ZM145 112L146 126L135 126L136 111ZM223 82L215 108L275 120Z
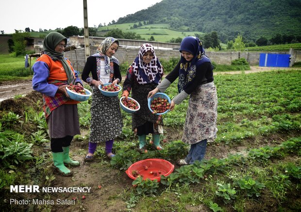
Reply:
M58 87L48 84L49 67L45 62L36 61L33 64L33 90L54 97Z

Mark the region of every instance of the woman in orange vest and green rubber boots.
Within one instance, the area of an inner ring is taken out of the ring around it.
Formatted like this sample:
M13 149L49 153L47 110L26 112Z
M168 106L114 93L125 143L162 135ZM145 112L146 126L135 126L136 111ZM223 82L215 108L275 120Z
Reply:
M80 134L77 104L70 100L66 87L81 85L82 81L64 57L67 38L58 32L50 32L43 43L44 54L33 65L33 90L43 94L44 112L49 129L50 147L55 168L63 176L73 172L64 164L79 166L69 157L73 136Z

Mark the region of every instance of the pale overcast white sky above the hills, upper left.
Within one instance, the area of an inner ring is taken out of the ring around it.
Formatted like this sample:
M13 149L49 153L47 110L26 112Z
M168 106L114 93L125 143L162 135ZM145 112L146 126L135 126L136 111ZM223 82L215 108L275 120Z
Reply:
M87 0L88 25L107 25L112 20L147 9L162 0ZM55 30L84 28L83 0L1 0L0 30Z

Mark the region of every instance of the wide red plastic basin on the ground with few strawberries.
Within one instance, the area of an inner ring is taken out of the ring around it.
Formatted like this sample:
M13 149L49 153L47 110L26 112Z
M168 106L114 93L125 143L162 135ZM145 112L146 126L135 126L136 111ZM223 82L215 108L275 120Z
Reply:
M147 170L145 170L147 167ZM132 164L125 173L133 180L137 177L134 177L132 172L138 171L139 175L142 175L143 180L150 179L151 181L157 179L160 182L160 175L164 175L167 177L171 174L174 169L174 165L172 165L169 161L157 158L150 158L141 161L137 161ZM151 173L153 172L153 173ZM161 173L159 173L161 172ZM156 175L157 174L157 175Z

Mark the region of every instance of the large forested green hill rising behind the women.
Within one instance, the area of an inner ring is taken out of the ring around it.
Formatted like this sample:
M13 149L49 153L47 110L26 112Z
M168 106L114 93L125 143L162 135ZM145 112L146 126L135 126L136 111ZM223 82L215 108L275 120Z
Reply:
M138 22L165 24L169 30L186 34L217 31L226 43L238 33L252 41L260 36L269 39L276 33L300 36L300 14L301 0L162 0L116 23L128 27Z

